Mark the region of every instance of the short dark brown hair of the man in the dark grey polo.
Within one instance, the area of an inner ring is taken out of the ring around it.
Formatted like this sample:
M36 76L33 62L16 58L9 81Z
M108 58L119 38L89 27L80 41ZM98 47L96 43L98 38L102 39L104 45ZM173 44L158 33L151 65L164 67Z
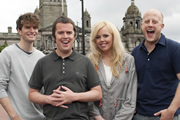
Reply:
M52 36L54 37L54 39L56 39L55 32L56 32L56 25L58 23L71 23L73 25L74 36L76 36L76 26L75 26L74 22L66 16L60 16L59 18L57 18L55 20L55 22L52 26Z

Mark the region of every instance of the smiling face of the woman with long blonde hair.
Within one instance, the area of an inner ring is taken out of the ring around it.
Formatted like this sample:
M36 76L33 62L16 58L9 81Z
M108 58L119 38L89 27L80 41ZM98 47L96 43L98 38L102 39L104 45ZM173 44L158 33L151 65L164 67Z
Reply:
M107 27L101 28L96 35L96 44L98 48L103 52L111 52L113 44L113 36L108 31Z

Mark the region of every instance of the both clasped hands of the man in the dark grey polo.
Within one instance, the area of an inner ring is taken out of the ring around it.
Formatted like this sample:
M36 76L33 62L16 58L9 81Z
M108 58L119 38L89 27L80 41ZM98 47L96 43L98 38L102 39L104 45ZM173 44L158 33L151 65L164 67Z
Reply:
M63 91L61 91L63 89ZM71 104L73 102L73 95L69 88L65 86L59 86L53 93L49 96L50 104L53 106L59 106L62 108L68 108L65 104Z

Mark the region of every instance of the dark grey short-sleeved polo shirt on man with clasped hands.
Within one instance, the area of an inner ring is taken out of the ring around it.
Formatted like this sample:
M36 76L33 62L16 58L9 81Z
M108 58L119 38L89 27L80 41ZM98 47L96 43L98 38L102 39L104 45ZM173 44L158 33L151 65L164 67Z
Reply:
M44 87L44 94L50 95L61 85L73 92L85 92L100 85L100 81L89 58L73 50L69 57L62 59L53 51L37 62L29 86L38 90ZM88 119L87 103L73 102L67 106L68 109L44 105L43 112L53 120Z

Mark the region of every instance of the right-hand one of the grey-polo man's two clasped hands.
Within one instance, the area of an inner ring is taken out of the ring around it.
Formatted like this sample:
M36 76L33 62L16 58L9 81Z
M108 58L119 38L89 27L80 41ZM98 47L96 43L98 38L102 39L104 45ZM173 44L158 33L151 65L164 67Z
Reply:
M64 91L61 91L60 89L63 89ZM56 106L71 104L73 102L74 92L65 86L58 87L56 90L53 90L53 93L59 95L58 98L60 101Z

